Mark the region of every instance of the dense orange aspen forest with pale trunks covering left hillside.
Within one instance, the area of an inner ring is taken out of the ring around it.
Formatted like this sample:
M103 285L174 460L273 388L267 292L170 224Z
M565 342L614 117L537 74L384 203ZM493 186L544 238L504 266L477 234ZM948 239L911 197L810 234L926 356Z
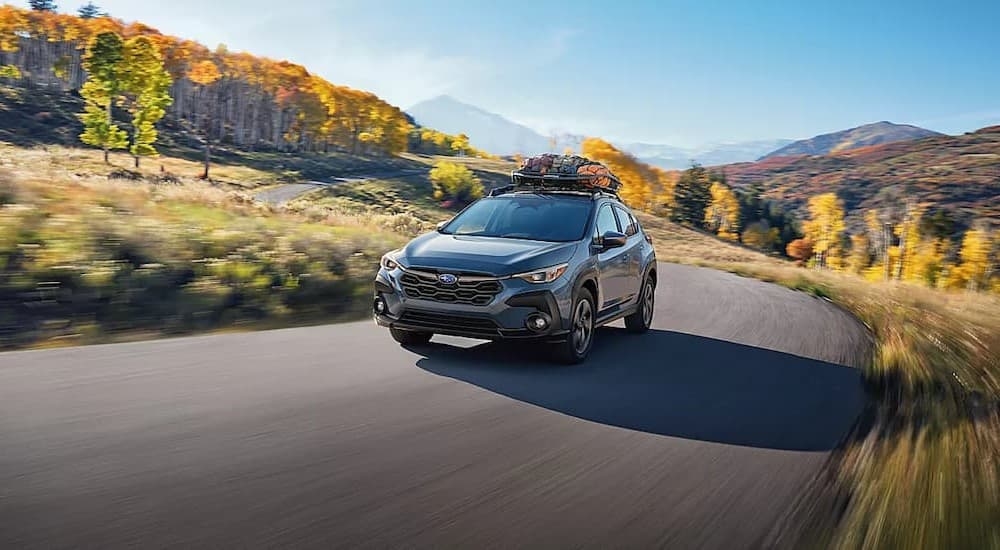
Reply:
M19 108L28 118L5 116L4 140L66 143L79 133L84 58L91 41L105 33L126 43L151 44L156 51L170 77L170 103L159 127L174 130L175 136L186 134L185 146L388 158L415 145L411 119L398 107L301 65L225 46L209 49L139 22L9 5L0 6L0 82L30 93L20 98L26 105ZM41 94L38 101L36 94ZM32 102L36 105L27 105ZM68 109L74 104L77 110ZM117 124L128 123L123 110L113 114Z

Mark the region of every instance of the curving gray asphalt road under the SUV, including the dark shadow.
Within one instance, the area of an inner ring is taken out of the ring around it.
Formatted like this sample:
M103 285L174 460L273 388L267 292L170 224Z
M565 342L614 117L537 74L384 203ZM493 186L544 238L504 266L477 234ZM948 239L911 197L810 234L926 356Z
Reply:
M863 329L663 265L565 367L371 322L0 354L0 548L754 548L857 417Z

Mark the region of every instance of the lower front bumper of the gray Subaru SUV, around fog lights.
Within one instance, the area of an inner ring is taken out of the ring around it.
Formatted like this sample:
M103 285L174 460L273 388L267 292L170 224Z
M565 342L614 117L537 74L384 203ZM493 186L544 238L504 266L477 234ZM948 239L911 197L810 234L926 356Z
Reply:
M376 308L373 315L380 326L484 340L560 341L569 333L568 311L560 306L572 293L565 279L542 285L507 279L490 303L479 306L407 297L399 276L398 269L380 269L375 278L374 298L382 300L383 306L381 313ZM549 321L548 327L529 329L529 319L539 315Z

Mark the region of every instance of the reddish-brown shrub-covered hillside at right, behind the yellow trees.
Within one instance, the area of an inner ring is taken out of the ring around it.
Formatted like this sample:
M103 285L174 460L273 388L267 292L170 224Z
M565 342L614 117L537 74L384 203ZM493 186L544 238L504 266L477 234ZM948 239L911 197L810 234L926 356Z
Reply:
M833 191L849 211L899 206L914 199L951 211L965 223L1000 220L1000 126L720 169L733 185L760 184L766 196L799 214L809 197Z

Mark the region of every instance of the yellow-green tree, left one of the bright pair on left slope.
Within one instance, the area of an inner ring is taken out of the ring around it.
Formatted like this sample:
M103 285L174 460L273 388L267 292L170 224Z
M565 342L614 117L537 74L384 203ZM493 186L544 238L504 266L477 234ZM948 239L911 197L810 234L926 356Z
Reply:
M124 86L121 75L124 49L121 36L101 33L91 41L83 61L89 77L80 90L85 102L80 115L84 128L80 140L103 149L105 163L109 162L109 151L128 145L128 134L115 124L111 110Z

